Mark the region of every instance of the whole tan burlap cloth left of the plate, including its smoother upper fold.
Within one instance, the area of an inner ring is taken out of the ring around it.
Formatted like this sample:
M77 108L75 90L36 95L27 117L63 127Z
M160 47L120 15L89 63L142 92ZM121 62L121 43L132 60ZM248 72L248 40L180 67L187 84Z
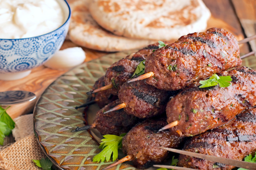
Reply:
M40 160L46 157L36 141L33 128L33 115L28 114L14 119L13 136L15 143L0 148L0 169L29 170L36 167L31 159Z

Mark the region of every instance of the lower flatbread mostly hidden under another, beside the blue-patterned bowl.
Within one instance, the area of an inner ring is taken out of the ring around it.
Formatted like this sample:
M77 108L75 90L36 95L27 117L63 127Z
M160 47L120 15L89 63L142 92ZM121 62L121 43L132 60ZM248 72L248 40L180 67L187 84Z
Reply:
M72 18L68 37L75 44L86 48L115 52L138 49L152 44L155 41L129 39L114 35L100 27L89 13L90 0L69 0Z

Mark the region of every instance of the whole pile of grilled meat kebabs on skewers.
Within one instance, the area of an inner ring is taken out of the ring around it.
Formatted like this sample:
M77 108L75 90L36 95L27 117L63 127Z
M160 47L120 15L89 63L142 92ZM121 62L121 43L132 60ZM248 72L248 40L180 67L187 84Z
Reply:
M118 99L97 112L93 125L77 130L97 128L101 134L118 135L131 129L122 142L127 156L113 165L132 160L144 169L167 158L167 151L159 147L237 160L255 152L256 71L238 67L242 60L236 38L211 28L165 43L162 48L149 45L110 66L105 83L99 83L100 78L94 88L106 86L89 94L97 92L97 103L111 102L111 95ZM145 74L131 79L142 62ZM233 67L238 68L226 71ZM199 88L199 80L213 74L231 76L230 86ZM183 145L187 137L192 138ZM234 168L184 155L179 166Z

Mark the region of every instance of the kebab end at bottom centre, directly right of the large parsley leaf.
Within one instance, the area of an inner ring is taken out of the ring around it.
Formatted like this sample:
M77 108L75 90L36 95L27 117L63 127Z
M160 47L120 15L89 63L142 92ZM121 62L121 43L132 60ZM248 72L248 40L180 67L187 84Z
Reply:
M133 156L133 165L147 169L153 164L163 162L168 151L158 147L178 148L183 138L175 137L170 131L158 131L167 125L166 120L146 120L138 124L123 137L123 153Z

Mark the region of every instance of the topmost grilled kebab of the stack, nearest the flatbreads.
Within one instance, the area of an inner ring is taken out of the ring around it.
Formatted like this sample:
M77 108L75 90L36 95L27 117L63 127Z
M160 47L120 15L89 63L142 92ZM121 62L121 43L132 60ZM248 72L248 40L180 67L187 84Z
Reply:
M196 80L240 66L239 55L238 41L224 29L191 33L146 58L145 73L154 72L146 83L162 90L179 90Z

